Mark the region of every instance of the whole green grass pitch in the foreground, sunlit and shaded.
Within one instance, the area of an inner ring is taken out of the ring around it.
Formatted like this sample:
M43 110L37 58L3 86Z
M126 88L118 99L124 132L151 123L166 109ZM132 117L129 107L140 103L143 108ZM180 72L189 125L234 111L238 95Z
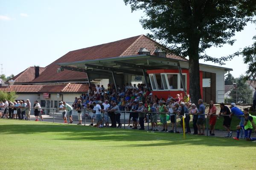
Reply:
M1 170L253 170L256 159L244 140L6 119L0 141Z

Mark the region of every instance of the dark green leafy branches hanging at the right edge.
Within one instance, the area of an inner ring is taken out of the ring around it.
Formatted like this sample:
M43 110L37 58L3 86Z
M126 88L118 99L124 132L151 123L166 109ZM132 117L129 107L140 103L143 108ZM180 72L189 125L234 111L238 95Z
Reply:
M256 36L253 37L256 40ZM246 80L256 80L256 41L253 45L245 47L241 52L244 57L244 63L247 64Z

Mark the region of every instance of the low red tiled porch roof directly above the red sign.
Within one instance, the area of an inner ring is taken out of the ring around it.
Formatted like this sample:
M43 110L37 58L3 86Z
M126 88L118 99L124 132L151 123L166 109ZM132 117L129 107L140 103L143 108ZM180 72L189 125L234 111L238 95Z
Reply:
M87 84L64 83L61 85L44 85L39 92L86 92L89 89Z

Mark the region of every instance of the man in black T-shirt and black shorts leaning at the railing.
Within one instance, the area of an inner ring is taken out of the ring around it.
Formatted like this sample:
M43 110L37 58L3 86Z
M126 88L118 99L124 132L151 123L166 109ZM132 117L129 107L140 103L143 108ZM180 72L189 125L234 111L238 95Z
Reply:
M220 104L220 108L221 108L221 111L220 111L220 113L218 113L218 117L223 115L223 117L224 117L223 127L228 131L228 134L225 137L226 138L228 138L228 137L231 138L232 131L230 129L230 124L231 124L232 118L230 118L230 116L224 116L224 115L230 115L231 114L230 109L227 106L225 106L224 103Z

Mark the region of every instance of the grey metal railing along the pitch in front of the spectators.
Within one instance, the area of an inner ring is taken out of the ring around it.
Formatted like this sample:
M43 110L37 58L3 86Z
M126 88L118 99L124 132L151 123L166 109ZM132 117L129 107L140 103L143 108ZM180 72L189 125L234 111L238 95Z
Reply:
M46 108L44 108L44 109L46 109ZM8 110L8 109L7 109ZM58 113L58 109L49 109L49 110L52 110L52 113L53 113L53 118L52 118L52 122L53 123L55 123L55 111L57 111L57 113ZM69 124L69 122L70 122L70 111L75 111L75 110L67 110L66 109L66 111L67 111L67 124ZM84 117L84 123L82 123L82 124L84 124L84 126L86 125L86 118L87 119L89 119L90 118L90 114L93 114L92 112L91 112L91 110L81 110L82 111L82 115L83 115L83 117ZM122 122L122 124L124 124L124 129L125 129L125 114L126 113L139 113L139 112L134 112L134 111L115 111L116 113L120 113L121 115L123 114L123 117L124 117L124 119L123 119L123 122ZM145 115L146 115L146 118L147 118L147 122L146 122L146 124L147 124L147 127L148 127L148 130L149 130L149 119L150 119L150 114L153 114L153 113L157 113L157 114L169 114L169 116L170 116L170 118L171 118L171 116L172 115L174 115L175 116L175 130L174 130L174 133L176 133L177 132L177 119L178 118L180 118L180 119L182 119L182 117L183 116L178 116L176 113L158 113L158 112L140 112L140 113L145 113ZM104 125L104 113L102 113L103 114L103 116L102 116L102 119L103 119L103 125ZM7 115L9 115L9 113L7 112ZM39 121L41 122L41 111L40 111L40 113L39 113ZM187 116L190 116L191 114L188 114L188 113L186 113L186 115ZM206 130L207 130L207 134L206 134L206 136L208 136L209 135L209 118L208 118L208 116L206 116L207 114L195 114L195 115L204 115L205 116L205 121L206 121ZM26 118L26 120L29 120L27 117L26 117L27 115L25 114L25 117L24 117L24 119ZM213 115L213 116L218 116L218 115ZM229 116L229 115L222 115L221 114L221 116ZM190 119L191 119L191 117L190 117ZM183 120L184 121L184 120ZM144 123L145 124L145 123ZM183 125L184 125L184 122L183 122ZM184 132L185 131L185 129L184 129L184 127L183 127L183 133L185 133Z

